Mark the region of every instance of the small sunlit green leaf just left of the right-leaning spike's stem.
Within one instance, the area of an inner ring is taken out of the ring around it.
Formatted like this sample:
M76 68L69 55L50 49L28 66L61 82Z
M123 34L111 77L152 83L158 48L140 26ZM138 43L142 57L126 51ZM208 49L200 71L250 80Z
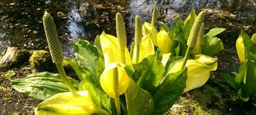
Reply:
M183 61L183 57L179 57L179 56L169 58L166 65L165 65L165 71L164 71L162 80L164 80L164 78L167 76L167 74L170 70L177 69L177 66L182 61Z

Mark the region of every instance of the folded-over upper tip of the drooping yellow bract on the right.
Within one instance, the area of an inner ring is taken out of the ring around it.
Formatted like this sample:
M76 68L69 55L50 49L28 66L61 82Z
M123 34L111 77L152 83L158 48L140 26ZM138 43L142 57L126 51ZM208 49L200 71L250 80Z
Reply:
M195 55L194 60L202 62L208 66L211 66L210 71L214 71L217 69L218 66L218 58L209 57L207 55Z

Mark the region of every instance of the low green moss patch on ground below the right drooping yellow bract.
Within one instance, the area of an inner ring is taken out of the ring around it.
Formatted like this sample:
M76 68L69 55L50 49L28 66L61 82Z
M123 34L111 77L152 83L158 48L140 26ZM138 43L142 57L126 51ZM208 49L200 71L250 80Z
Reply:
M222 111L226 112L225 99L216 87L204 85L184 95L168 115L224 115Z

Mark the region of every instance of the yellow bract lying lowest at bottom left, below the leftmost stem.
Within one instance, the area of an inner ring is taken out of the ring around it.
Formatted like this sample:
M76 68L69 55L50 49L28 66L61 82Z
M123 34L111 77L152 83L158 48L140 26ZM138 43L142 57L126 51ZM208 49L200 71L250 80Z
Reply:
M35 108L35 115L91 115L97 109L88 91L56 94Z

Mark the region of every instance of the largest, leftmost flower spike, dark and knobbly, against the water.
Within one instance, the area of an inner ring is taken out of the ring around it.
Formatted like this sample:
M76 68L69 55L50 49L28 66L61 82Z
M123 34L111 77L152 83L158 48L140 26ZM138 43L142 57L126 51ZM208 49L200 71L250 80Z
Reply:
M52 62L59 64L63 60L62 51L60 48L60 41L58 39L56 27L52 16L45 11L43 16L44 31L48 42L50 54L52 56Z

